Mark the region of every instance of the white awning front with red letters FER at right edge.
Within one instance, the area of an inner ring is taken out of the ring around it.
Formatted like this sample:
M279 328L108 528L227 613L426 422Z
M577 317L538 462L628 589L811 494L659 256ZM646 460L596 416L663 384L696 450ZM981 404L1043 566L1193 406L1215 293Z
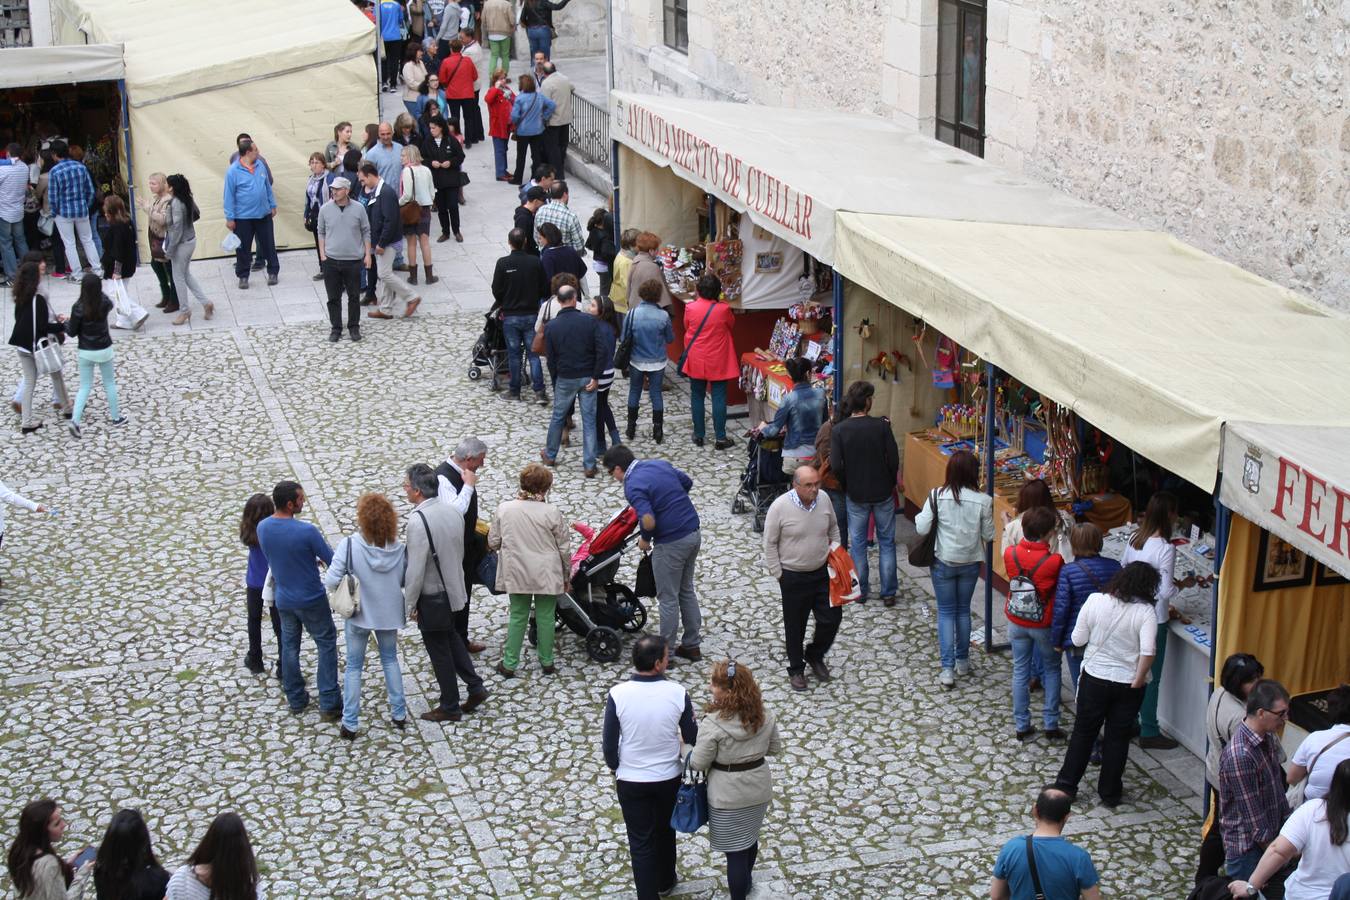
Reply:
M1219 499L1350 578L1350 428L1227 422Z

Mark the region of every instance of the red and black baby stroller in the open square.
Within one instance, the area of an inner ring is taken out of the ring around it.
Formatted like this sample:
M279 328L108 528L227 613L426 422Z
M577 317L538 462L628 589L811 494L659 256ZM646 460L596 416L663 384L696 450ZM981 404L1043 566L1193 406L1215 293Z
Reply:
M585 534L585 532L582 532ZM589 553L574 563L572 591L558 598L558 626L586 638L586 652L597 663L614 663L624 652L620 630L641 631L647 607L632 588L614 580L624 551L637 533L637 513L625 506L590 541ZM574 557L575 560L575 557ZM539 644L535 619L529 642Z

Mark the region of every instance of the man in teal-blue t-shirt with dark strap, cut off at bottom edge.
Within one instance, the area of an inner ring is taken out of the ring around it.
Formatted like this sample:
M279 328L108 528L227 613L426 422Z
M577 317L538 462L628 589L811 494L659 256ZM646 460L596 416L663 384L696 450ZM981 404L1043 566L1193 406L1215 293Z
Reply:
M1056 788L1041 789L1041 796L1031 807L1035 830L1031 833L1031 847L1035 853L1035 872L1041 881L1045 900L1100 900L1096 868L1092 857L1083 847L1064 839L1064 823L1069 819L1073 800ZM992 900L1034 900L1035 887L1031 866L1027 862L1027 839L1013 838L1003 845L994 864L994 882L990 885Z

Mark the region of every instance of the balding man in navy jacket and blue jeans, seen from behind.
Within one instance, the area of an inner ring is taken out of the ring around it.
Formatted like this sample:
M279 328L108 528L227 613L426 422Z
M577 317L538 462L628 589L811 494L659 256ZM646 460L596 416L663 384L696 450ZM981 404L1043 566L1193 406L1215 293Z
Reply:
M586 478L595 478L595 390L605 374L605 343L598 318L576 309L576 289L558 289L562 312L544 327L548 374L554 379L554 418L548 424L548 445L539 456L554 466L563 443L563 422L576 401L582 409L582 464Z

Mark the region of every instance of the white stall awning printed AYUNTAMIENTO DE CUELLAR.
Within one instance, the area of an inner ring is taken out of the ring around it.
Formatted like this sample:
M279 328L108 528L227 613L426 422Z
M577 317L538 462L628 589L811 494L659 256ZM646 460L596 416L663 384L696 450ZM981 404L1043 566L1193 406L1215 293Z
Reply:
M826 263L841 210L1137 228L876 116L614 90L610 136Z

